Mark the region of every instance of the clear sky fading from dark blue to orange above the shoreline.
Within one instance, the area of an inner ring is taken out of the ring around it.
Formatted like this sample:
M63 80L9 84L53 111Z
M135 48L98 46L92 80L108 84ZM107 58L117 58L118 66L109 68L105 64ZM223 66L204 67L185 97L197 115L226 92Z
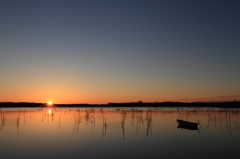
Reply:
M0 0L0 102L240 100L239 0Z

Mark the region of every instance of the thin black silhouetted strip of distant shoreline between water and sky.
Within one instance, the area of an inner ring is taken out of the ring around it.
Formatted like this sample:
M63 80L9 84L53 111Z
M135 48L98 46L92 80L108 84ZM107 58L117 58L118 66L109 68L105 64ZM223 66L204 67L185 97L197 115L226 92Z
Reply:
M0 108L12 108L12 107L46 107L46 103L13 103L2 102ZM155 103L143 103L143 102L131 102L131 103L108 103L108 104L54 104L53 107L218 107L218 108L240 108L239 101L232 102L155 102Z

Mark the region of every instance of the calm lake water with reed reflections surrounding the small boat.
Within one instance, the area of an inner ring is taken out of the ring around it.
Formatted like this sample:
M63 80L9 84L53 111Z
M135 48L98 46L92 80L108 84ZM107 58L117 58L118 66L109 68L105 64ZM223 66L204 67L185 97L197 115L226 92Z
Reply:
M239 109L0 108L1 158L235 158L239 141Z

